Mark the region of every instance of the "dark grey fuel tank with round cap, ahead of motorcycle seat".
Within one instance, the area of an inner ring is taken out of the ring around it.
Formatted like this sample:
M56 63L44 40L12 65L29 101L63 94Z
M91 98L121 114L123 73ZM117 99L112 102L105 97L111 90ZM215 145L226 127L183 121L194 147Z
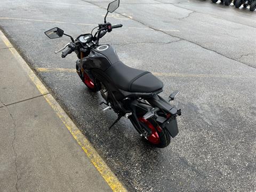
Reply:
M89 56L82 59L82 65L84 69L98 68L105 71L117 61L119 61L119 58L115 48L106 44L93 48Z

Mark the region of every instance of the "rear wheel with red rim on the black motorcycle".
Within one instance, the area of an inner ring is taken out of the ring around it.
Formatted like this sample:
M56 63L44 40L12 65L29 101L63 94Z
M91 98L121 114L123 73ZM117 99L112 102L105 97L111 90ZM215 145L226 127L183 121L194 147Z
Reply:
M147 141L154 147L164 148L170 144L170 134L162 129L153 118L139 118L141 126L147 126L151 130L151 135L147 137Z

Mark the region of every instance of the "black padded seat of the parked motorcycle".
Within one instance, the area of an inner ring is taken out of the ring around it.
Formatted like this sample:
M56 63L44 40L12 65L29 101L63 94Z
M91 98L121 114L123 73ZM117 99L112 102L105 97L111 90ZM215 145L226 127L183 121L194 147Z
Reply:
M106 74L124 91L149 93L163 88L163 82L150 72L131 68L120 60L111 65Z

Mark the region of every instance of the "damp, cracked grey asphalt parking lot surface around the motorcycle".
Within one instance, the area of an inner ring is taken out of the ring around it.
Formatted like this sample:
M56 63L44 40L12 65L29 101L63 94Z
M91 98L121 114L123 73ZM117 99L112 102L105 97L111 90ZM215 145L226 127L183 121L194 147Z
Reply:
M54 54L103 21L107 0L2 0L0 26L30 67L75 68L75 55ZM127 119L103 112L75 73L36 71L98 153L131 191L256 190L256 14L210 1L123 0L109 14L123 27L102 43L131 67L154 72L161 95L180 94L179 135L169 147L143 142Z

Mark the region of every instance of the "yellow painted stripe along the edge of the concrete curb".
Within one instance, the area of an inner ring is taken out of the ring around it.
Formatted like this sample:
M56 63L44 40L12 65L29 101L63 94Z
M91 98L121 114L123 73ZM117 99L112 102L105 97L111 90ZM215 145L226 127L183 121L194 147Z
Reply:
M6 44L6 46L11 45L5 35L0 31L0 38ZM12 46L12 45L11 45ZM43 83L38 79L35 73L29 68L26 61L24 61L20 54L14 48L9 49L15 59L20 63L22 68L29 75L31 81L34 82L37 89L42 93L49 93ZM51 94L44 95L44 98L55 111L55 113L59 116L63 124L67 127L69 132L73 135L74 139L77 141L79 146L84 150L85 154L91 160L92 164L96 167L96 169L100 172L103 179L108 183L109 187L113 191L123 192L127 191L125 187L122 185L120 181L118 181L116 175L109 169L108 165L103 161L97 151L93 148L90 141L86 139L83 133L77 128L77 126L73 123L73 121L68 117L65 111L60 107L59 103L52 97Z

